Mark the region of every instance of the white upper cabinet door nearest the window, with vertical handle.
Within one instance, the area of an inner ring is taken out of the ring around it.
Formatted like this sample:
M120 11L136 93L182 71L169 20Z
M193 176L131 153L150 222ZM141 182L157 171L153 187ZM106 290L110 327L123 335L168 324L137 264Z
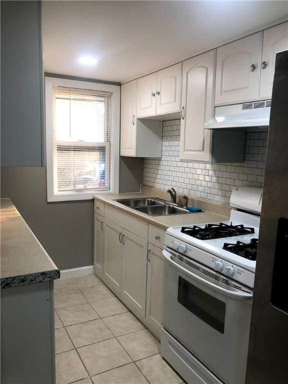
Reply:
M120 155L136 154L137 80L121 85Z

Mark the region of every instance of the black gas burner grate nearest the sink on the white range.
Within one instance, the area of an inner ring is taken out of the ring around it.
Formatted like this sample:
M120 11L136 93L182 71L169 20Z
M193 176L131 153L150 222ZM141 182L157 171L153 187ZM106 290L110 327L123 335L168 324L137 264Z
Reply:
M219 224L206 224L203 228L194 225L193 227L182 226L181 232L199 240L209 240L213 238L239 236L241 234L252 234L254 228L245 227L243 224L232 225L220 222Z

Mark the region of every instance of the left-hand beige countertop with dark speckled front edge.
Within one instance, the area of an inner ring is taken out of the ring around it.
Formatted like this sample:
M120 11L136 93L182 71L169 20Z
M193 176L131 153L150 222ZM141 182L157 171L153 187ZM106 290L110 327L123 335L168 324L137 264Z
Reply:
M0 199L1 288L60 277L60 271L9 198Z

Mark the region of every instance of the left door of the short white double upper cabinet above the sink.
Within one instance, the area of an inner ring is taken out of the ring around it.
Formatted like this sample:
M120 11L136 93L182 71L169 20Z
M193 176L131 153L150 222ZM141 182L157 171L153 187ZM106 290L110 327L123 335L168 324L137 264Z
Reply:
M156 73L137 80L137 117L156 114Z

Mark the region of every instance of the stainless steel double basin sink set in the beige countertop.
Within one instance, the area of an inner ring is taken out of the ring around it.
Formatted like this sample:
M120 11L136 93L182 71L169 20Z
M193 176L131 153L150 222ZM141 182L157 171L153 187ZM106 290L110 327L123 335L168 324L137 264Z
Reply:
M116 201L131 209L135 209L138 212L142 212L150 216L166 216L169 214L191 213L185 208L181 208L158 197L121 198L113 201Z

